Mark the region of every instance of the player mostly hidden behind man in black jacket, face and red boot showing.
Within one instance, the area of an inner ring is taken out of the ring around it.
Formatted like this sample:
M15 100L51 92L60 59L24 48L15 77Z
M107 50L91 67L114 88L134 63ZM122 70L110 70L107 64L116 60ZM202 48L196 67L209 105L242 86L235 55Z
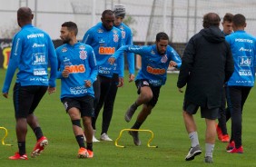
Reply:
M233 15L227 13L223 17L222 22L222 33L226 36L233 33L232 28L232 17ZM230 142L230 136L227 131L226 122L231 118L231 113L229 109L226 109L226 93L225 93L226 83L223 86L223 93L222 93L222 106L220 107L220 115L221 117L218 119L219 123L217 124L216 130L218 134L218 139L222 142Z

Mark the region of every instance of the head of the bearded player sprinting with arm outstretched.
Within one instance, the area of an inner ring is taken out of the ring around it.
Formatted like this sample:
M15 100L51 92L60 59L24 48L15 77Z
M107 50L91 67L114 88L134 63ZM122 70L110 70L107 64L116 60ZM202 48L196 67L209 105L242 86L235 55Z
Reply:
M169 36L166 33L160 32L156 34L155 44L158 54L165 54L168 43Z

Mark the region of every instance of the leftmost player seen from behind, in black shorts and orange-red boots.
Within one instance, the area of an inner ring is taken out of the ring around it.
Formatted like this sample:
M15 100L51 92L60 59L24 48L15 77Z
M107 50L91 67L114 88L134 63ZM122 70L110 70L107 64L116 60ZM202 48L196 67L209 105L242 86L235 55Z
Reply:
M57 58L50 36L32 25L33 17L28 7L21 7L17 11L17 22L21 30L13 38L13 47L2 90L7 98L15 70L18 68L13 100L19 151L9 157L11 160L27 160L25 151L27 124L37 139L31 153L32 157L40 155L48 144L38 119L34 115L34 110L47 90L48 93L55 92ZM51 64L50 79L48 79L47 70L49 63Z

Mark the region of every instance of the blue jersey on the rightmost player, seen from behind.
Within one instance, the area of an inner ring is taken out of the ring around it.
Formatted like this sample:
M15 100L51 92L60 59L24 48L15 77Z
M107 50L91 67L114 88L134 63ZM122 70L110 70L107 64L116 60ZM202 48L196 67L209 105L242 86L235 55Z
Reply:
M252 87L255 80L256 38L242 30L227 35L225 38L231 45L234 60L234 73L227 84Z

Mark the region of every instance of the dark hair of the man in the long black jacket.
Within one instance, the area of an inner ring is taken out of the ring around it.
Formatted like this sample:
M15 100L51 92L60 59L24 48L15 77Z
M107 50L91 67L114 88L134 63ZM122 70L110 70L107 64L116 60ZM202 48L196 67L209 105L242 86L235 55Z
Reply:
M210 26L219 26L221 18L215 13L208 13L203 15L202 26L204 28L209 28Z

